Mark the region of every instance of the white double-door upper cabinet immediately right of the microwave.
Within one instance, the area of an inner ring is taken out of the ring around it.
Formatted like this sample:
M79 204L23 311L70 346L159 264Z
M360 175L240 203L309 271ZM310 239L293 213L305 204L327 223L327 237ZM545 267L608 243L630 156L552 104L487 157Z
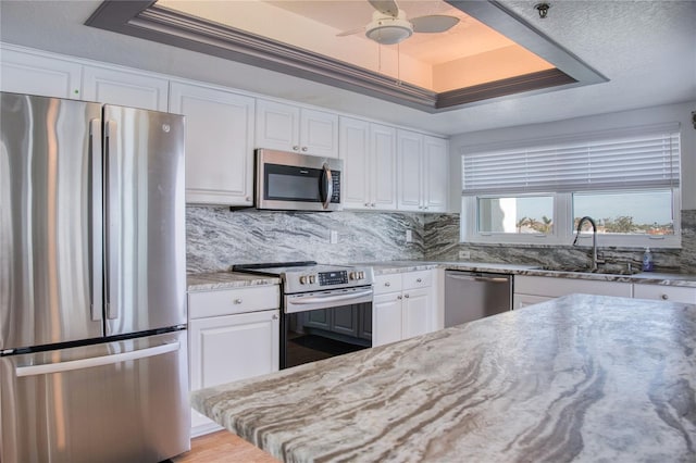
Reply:
M396 129L351 117L340 117L339 126L344 205L396 209Z

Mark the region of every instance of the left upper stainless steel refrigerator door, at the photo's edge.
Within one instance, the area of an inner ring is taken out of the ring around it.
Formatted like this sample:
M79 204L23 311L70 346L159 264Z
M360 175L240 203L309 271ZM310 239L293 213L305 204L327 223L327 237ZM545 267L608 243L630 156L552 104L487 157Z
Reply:
M100 337L101 107L0 99L0 350Z

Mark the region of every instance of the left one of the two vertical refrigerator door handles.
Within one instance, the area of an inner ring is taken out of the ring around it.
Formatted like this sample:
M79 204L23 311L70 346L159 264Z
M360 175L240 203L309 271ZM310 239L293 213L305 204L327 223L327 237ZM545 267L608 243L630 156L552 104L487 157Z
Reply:
M89 121L89 159L91 161L91 320L102 320L103 313L103 185L101 182L101 120Z

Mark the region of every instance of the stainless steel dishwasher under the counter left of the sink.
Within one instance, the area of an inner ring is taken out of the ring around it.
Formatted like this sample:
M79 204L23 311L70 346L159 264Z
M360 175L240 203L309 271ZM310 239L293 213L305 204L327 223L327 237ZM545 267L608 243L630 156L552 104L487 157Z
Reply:
M445 328L511 309L511 275L445 272Z

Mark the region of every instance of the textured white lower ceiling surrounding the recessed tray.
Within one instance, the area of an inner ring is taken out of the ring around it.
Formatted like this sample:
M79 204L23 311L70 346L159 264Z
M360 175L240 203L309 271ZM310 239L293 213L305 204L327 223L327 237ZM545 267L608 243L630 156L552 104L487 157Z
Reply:
M304 101L452 135L696 100L696 2L504 1L605 84L426 114L278 73L84 26L100 1L0 1L0 40Z

